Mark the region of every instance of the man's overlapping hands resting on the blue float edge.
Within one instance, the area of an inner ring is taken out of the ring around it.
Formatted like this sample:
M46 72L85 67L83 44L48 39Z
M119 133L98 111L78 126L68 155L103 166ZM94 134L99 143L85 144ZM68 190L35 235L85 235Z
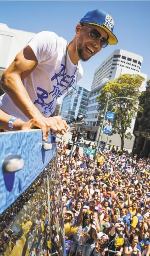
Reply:
M15 122L18 122L19 119L16 119L14 121L14 127L15 127ZM38 127L42 129L43 132L43 140L47 140L49 136L50 130L53 133L61 132L62 135L67 132L68 125L65 120L61 119L61 116L54 116L54 117L49 117L49 118L33 118L27 122L24 122L23 124L20 125L20 130L28 130L32 129L34 127Z

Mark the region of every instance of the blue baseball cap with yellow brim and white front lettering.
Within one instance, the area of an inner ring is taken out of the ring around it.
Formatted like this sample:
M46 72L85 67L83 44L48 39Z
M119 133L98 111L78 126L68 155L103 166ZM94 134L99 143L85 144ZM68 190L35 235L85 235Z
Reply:
M91 25L96 25L103 28L109 36L109 45L117 44L117 37L112 33L114 28L113 18L105 11L102 11L100 9L89 11L87 14L85 14L85 16L80 20L79 23L89 23Z

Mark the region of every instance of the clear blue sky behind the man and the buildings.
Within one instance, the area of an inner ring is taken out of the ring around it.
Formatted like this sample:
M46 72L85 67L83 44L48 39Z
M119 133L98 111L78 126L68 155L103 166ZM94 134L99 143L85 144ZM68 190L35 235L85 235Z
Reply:
M141 55L141 72L150 79L150 1L0 1L0 23L34 33L54 31L69 42L74 38L76 24L94 9L113 17L118 44L82 62L84 76L78 84L90 89L94 70L115 49Z

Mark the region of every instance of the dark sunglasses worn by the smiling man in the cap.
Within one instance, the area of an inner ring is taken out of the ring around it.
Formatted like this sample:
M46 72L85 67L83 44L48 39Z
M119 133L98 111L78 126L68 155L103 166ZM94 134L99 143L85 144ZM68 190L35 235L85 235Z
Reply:
M85 25L81 24L83 27L85 28L88 28L86 27ZM100 34L100 32L95 29L95 28L88 28L90 30L89 32L89 36L93 39L93 40L98 40L100 37L101 37L101 40L100 40L100 46L102 46L102 48L105 48L106 46L108 46L108 40L103 37L102 34Z

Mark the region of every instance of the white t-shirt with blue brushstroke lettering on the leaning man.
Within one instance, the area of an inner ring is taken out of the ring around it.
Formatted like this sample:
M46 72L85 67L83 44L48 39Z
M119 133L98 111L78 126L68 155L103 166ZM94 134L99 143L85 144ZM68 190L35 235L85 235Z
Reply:
M54 32L40 32L27 45L32 48L39 64L22 83L40 113L50 117L56 108L57 99L67 92L67 86L70 89L74 84L74 87L76 80L82 78L83 68L78 62L75 72L77 65L72 63L67 52L67 68L64 71L67 41ZM0 108L6 113L28 120L6 93L0 97L0 101Z

